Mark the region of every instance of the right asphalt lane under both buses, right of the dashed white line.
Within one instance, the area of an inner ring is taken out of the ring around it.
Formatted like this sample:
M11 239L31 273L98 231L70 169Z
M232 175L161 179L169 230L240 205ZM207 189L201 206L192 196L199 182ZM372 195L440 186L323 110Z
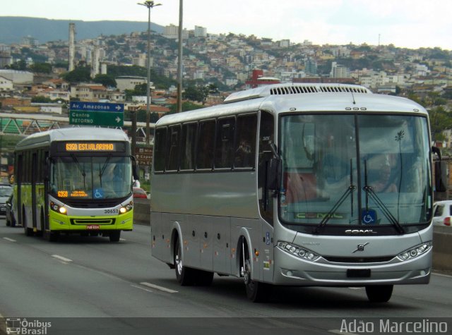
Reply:
M15 229L9 229L9 231L15 231ZM174 296L166 298L181 300L182 303L185 300L192 311L198 310L202 315L213 317L316 317L319 315L377 317L384 312L387 313L388 309L393 310L395 315L400 317L423 317L449 315L451 312L450 305L447 307L448 301L451 301L450 296L444 295L444 287L450 287L448 284L451 283L451 278L448 277L433 276L432 284L429 286L396 286L391 302L381 305L369 304L361 288L277 287L273 293L269 294L269 303L252 304L246 300L241 279L215 276L213 286L208 288L178 286L174 270L151 258L150 247L141 243L142 235L147 231L148 227L136 227L136 231L121 243L104 242L102 238L79 240L76 236L69 236L68 240L63 240L61 243L47 243L40 238L27 238L23 234L16 234L16 238L30 241L32 248L41 248L47 255L60 250L60 255L72 257L79 267L113 278L117 276L139 286L138 289L148 289L148 286L144 287L142 284L148 283L178 291ZM57 248L54 249L55 247ZM131 260L131 258L138 260ZM434 288L433 294L432 288ZM153 291L153 288L150 291ZM441 304L437 303L438 300ZM185 310L177 309L168 312L166 316L181 316L186 313Z

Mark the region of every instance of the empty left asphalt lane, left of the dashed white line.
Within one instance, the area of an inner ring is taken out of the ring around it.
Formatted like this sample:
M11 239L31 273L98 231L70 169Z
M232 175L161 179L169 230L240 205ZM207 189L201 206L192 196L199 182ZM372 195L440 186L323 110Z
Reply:
M1 315L33 317L164 317L173 310L185 317L201 317L185 303L167 299L171 293L128 281L89 264L35 248L0 229ZM5 239L8 235L8 240ZM45 243L45 241L42 241ZM61 251L61 250L60 250ZM7 255L7 257L6 257Z

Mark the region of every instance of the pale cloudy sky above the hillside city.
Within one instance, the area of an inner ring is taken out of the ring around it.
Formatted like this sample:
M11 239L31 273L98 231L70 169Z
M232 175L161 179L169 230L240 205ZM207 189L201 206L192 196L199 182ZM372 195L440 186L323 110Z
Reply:
M2 0L4 2L6 0ZM0 16L64 20L148 21L133 0L15 0ZM179 25L181 0L157 0L150 20ZM451 0L183 0L183 27L255 35L274 41L369 44L452 50Z

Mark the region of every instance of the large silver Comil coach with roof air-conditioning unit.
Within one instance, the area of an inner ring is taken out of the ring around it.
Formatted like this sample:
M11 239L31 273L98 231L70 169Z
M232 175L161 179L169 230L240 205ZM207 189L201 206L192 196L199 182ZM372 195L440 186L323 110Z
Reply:
M156 123L152 255L182 285L428 284L427 111L359 85L268 85Z

